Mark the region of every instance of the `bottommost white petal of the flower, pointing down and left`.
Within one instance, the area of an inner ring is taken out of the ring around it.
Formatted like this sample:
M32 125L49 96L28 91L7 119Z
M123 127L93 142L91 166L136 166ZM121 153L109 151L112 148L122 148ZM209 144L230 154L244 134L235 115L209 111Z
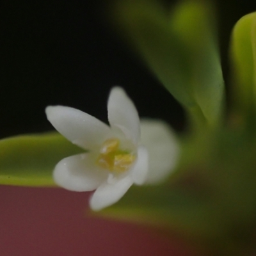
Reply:
M109 184L104 182L90 198L90 207L93 211L100 211L104 207L115 204L127 190L132 186L132 179L129 175L116 180L115 183Z

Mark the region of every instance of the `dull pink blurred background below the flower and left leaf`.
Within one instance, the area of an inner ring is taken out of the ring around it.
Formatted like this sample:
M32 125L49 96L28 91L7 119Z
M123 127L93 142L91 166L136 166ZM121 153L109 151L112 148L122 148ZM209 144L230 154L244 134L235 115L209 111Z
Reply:
M88 193L0 186L0 194L4 256L192 255L178 239L150 228L86 217Z

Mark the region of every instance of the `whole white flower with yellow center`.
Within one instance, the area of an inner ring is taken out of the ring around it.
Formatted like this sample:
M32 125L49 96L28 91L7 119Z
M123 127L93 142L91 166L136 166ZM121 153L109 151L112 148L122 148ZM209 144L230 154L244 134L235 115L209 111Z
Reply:
M169 127L156 120L140 124L134 104L120 87L109 95L110 127L64 106L49 106L46 115L63 136L89 150L62 159L53 177L56 184L72 191L96 189L90 198L94 211L115 204L133 183L161 182L177 161L179 147Z

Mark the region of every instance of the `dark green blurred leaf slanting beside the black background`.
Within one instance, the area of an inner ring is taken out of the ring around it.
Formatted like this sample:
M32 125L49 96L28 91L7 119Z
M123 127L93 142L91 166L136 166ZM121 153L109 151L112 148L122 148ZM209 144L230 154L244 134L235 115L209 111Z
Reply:
M117 1L112 18L170 93L195 108L186 51L172 33L168 13L154 1Z

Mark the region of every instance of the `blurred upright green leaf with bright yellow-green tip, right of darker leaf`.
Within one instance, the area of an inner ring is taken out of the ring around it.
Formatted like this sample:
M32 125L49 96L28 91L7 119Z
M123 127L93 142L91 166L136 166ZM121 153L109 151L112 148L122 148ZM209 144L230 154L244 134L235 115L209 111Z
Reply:
M206 2L181 2L172 13L171 26L187 49L193 98L207 122L215 125L223 114L224 81L212 10Z

